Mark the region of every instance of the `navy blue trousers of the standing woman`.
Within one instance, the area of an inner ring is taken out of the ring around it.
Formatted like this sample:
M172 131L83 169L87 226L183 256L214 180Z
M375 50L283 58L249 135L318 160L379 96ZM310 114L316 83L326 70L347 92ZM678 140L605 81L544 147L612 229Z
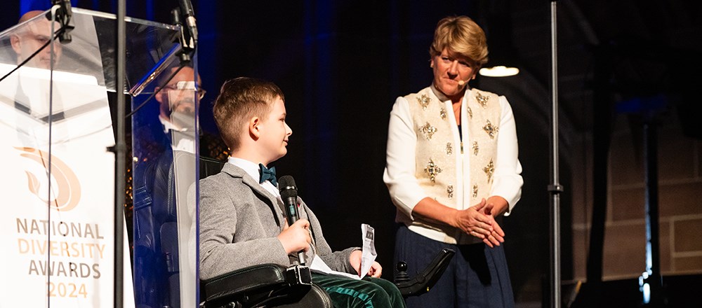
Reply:
M397 230L395 263L407 262L407 272L412 278L443 248L456 251L446 272L428 293L408 297L407 307L515 307L503 246L446 244L402 225Z

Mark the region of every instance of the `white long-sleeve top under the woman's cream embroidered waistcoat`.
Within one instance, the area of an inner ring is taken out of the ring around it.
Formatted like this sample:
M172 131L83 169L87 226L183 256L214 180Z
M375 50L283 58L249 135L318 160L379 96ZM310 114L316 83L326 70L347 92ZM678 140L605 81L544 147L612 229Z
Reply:
M447 113L447 118L451 119L454 128L451 130L453 134L453 144L461 144L461 137L458 134L458 127L455 123L455 116L451 100L447 99L443 94L432 87L433 93L444 104L444 110ZM468 123L468 111L466 102L467 95L470 91L466 91L461 104L461 123ZM503 197L508 202L508 211L505 216L509 215L512 208L515 207L519 197L522 194L522 165L518 159L517 132L515 128L514 115L509 102L504 96L499 97L501 106L501 117L497 141L497 153L494 169L494 180L492 182L489 194L490 196ZM472 112L479 112L474 109ZM446 241L446 236L443 232L423 228L421 224L413 224L415 218L412 211L416 204L425 197L430 197L428 193L419 185L415 177L416 174L416 145L418 136L415 130L418 127L413 123L409 102L404 97L398 97L395 105L390 112L390 123L388 125L388 146L385 172L383 181L388 186L392 202L397 207L397 222L405 223L414 232L430 237L437 241ZM461 125L463 139L468 138L468 125ZM459 162L463 166L456 166L458 172L456 186L456 202L458 209L467 209L475 204L470 203L470 192L472 192L472 183L470 183L470 151L461 153L459 149L456 151L459 157Z

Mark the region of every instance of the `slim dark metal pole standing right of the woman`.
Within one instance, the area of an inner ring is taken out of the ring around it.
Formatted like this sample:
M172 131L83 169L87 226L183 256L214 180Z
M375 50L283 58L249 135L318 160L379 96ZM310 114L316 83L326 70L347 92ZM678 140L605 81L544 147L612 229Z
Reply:
M550 204L550 260L551 260L551 307L561 307L561 248L560 248L560 193L563 187L558 177L558 62L557 62L557 36L556 36L556 1L551 1L551 183L548 192L551 195Z

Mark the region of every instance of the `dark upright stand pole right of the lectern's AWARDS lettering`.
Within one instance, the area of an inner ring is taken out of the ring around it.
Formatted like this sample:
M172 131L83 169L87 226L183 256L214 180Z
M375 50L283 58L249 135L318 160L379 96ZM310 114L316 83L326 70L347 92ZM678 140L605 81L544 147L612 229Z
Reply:
M124 304L124 192L126 171L125 144L125 98L124 70L126 62L126 1L117 1L117 61L115 74L115 92L117 94L117 140L115 142L115 189L114 189L114 307L122 308Z

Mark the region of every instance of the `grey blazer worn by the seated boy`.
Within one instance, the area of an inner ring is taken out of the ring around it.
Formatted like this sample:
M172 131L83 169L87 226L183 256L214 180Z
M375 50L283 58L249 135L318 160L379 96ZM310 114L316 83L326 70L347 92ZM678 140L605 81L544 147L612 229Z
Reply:
M356 274L349 262L357 247L332 252L312 211L302 204L300 218L312 229L314 252L331 269ZM277 235L285 223L284 205L243 169L227 163L222 172L200 180L200 279L236 269L277 263L291 265ZM307 262L311 262L310 249ZM309 264L308 264L309 265Z

